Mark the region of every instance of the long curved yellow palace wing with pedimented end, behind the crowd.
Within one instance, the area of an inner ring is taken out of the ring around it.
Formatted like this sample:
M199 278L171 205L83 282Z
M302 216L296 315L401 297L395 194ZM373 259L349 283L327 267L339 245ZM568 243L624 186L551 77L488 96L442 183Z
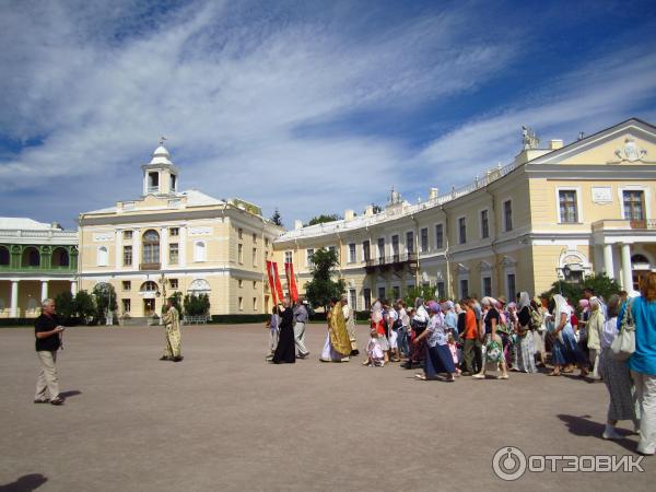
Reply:
M606 272L625 290L656 270L656 127L629 119L576 142L540 145L524 129L514 161L469 186L408 203L391 192L379 213L352 210L274 242L300 291L309 257L335 248L349 301L365 309L430 284L441 297L540 294L557 279Z

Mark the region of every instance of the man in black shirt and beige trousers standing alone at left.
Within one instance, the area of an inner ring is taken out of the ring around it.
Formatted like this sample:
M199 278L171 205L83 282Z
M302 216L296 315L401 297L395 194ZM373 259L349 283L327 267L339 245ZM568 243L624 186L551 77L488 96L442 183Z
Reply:
M34 323L36 338L36 354L40 361L40 372L36 380L35 403L61 405L63 399L59 396L59 379L57 378L57 351L61 345L63 327L55 315L55 302L47 298L42 303L42 315ZM47 398L47 393L50 398Z

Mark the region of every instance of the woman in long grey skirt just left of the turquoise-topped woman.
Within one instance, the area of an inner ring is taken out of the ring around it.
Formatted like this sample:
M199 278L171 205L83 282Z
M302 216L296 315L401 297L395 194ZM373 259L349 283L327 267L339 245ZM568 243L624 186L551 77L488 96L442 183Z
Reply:
M640 422L635 418L635 406L633 402L633 382L631 371L623 361L617 361L612 356L610 345L618 335L618 314L620 311L620 296L611 295L608 300L608 319L604 323L601 332L599 355L599 374L608 389L610 401L606 419L606 429L601 436L605 440L621 440L617 433L616 425L619 420L631 420L635 429Z

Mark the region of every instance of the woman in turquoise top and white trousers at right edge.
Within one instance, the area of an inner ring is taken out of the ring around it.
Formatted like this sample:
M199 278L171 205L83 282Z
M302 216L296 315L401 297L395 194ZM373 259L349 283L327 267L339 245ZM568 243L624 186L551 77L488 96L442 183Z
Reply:
M643 279L640 290L642 296L626 303L623 311L631 308L635 324L635 352L629 359L629 367L641 414L637 452L653 455L656 452L656 272Z

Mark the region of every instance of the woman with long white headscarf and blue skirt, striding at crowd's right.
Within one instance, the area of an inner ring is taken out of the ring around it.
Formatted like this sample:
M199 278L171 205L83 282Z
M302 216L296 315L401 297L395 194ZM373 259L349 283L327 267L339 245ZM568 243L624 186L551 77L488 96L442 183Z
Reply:
M553 371L550 376L560 376L563 365L577 363L581 376L587 376L585 356L578 349L574 330L572 329L572 308L560 294L553 294Z

